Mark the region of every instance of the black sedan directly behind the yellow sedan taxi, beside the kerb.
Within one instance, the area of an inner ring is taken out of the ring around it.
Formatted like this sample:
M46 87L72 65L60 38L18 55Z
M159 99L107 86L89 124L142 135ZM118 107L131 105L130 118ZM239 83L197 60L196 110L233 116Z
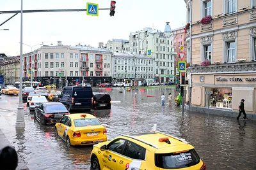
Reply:
M59 102L42 103L36 106L34 117L42 125L60 122L60 118L70 115L67 108Z

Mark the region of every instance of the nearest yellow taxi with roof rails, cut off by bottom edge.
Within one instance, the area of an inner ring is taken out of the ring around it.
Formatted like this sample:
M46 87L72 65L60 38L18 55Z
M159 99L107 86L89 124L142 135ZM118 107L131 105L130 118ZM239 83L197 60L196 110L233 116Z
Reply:
M162 132L122 135L93 145L91 168L205 170L192 145Z

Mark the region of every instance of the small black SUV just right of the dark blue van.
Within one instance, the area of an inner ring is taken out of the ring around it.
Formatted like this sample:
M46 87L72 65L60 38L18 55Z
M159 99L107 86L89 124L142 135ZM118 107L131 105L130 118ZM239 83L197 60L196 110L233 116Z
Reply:
M111 109L109 94L93 92L93 109Z

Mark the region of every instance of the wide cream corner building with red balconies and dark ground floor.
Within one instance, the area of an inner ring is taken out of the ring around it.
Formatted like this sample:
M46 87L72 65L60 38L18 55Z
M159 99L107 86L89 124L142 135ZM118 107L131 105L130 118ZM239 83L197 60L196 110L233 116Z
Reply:
M57 86L111 82L111 52L104 48L88 46L65 46L58 41L56 46L41 46L23 57L24 80L33 78L43 85Z

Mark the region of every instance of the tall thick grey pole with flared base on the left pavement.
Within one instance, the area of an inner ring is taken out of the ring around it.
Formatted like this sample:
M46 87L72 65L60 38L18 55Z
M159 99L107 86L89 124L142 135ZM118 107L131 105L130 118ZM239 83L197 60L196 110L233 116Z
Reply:
M22 6L23 0L21 0L21 10L20 10L20 88L22 88ZM25 120L24 120L24 109L22 104L22 90L19 89L19 105L17 110L17 117L15 127L17 128L24 128L25 127Z

